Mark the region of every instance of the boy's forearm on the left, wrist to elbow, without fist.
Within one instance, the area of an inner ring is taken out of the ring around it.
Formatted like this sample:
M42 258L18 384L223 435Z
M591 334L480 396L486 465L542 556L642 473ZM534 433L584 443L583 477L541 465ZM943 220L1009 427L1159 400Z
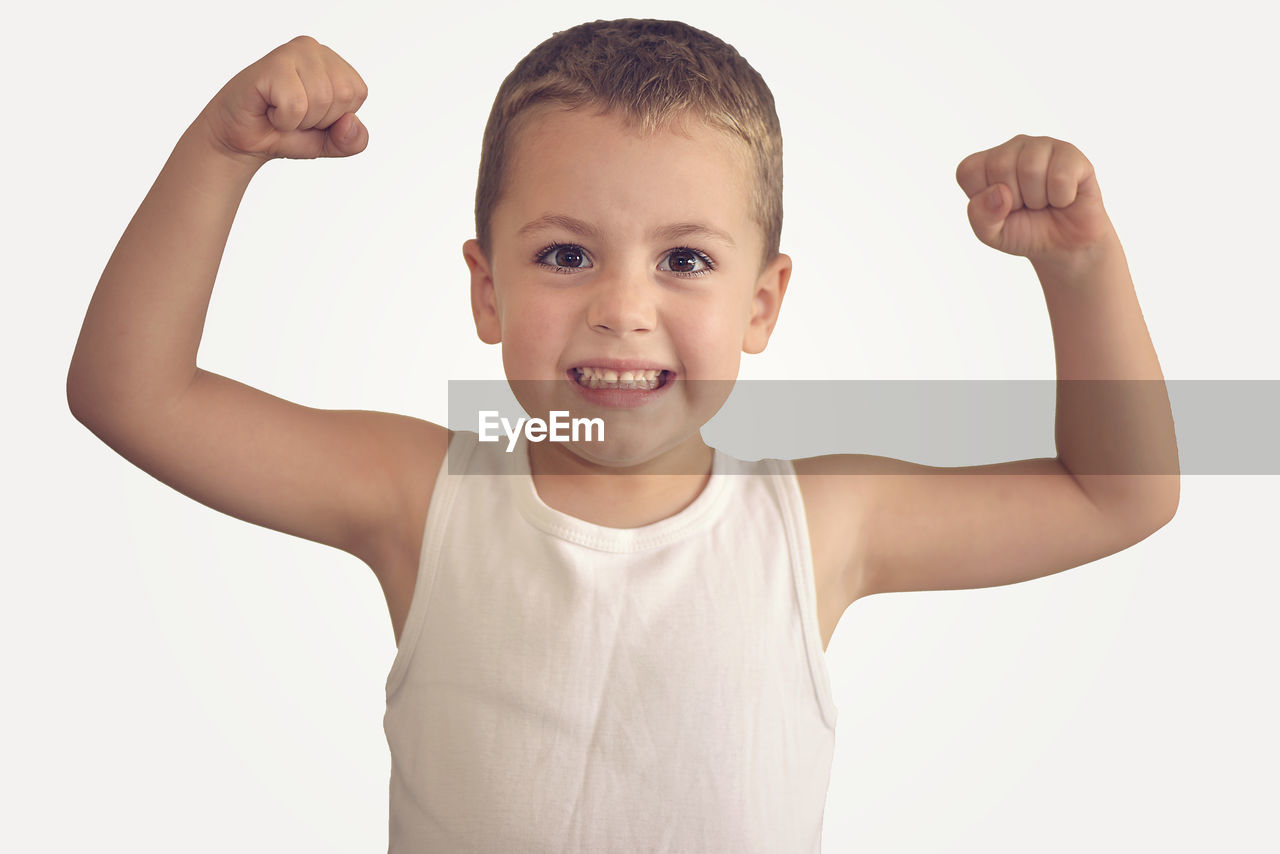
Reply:
M90 301L67 376L78 417L163 406L191 383L227 237L261 163L218 151L200 119L183 133Z

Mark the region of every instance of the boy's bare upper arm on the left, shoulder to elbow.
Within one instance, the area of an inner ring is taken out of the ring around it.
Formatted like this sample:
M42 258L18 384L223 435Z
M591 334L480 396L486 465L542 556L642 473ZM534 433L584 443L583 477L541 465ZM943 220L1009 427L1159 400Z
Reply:
M369 563L412 536L415 487L448 447L435 424L311 408L198 369L163 414L91 429L202 504Z

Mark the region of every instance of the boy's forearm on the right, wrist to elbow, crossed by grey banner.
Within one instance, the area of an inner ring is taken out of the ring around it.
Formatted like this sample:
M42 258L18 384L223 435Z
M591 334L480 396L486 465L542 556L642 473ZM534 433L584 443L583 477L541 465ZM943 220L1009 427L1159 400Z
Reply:
M1053 330L1059 460L1100 508L1167 521L1179 493L1174 419L1119 238L1033 266Z

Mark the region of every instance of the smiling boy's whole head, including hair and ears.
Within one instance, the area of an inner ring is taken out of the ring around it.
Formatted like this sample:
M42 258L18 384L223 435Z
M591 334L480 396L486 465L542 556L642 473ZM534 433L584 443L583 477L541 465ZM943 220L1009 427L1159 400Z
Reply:
M503 82L463 245L472 311L526 412L608 416L572 455L696 451L790 278L781 147L759 74L685 24L582 24Z

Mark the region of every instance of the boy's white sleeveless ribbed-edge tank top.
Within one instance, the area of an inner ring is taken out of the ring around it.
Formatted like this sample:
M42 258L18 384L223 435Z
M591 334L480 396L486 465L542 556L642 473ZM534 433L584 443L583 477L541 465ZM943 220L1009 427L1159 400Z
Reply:
M836 707L790 461L669 519L547 506L456 433L387 677L390 854L813 854Z

